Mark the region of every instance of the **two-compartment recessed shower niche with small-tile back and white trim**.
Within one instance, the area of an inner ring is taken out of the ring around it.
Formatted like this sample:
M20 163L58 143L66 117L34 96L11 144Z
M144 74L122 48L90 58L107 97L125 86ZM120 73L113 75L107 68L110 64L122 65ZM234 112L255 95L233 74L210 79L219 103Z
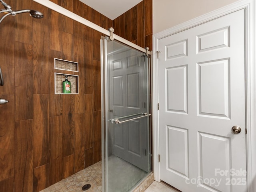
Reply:
M54 58L54 69L55 94L78 94L78 62ZM70 82L70 93L63 93L62 83L66 76Z

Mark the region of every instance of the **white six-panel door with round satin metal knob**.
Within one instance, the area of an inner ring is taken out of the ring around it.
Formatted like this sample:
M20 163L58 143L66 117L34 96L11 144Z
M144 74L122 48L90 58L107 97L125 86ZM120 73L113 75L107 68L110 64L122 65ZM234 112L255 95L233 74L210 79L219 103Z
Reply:
M244 44L244 10L158 41L160 179L182 192L246 192Z

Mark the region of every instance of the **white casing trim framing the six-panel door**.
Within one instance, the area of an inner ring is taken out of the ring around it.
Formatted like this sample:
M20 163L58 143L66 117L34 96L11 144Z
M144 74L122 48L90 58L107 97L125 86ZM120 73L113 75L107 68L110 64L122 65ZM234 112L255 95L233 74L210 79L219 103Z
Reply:
M224 8L220 8L214 12L206 14L204 16L200 16L191 21L185 22L184 24L180 24L153 36L154 39L154 63L153 64L153 159L154 159L154 176L155 180L160 181L160 173L159 173L159 163L158 163L158 154L159 154L159 133L158 133L158 110L157 103L159 102L158 98L158 59L156 51L158 48L158 41L166 36L170 36L172 34L176 34L178 32L184 31L189 28L193 28L194 26L198 26L214 18L218 18L220 16L224 16L226 14L230 14L234 11L245 9L245 31L246 31L246 42L245 42L245 55L246 55L246 126L247 126L247 134L246 134L246 144L247 144L247 182L248 182L248 192L254 192L256 189L256 94L255 94L255 76L256 76L256 67L255 67L255 10L256 4L253 0L241 0ZM160 94L160 93L159 93ZM162 158L161 158L162 159Z

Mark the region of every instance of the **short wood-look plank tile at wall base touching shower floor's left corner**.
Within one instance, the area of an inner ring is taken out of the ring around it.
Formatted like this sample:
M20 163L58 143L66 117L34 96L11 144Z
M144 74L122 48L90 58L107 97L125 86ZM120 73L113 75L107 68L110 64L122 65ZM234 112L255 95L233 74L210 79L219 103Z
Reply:
M34 168L33 192L39 192L50 186L48 175L49 164Z

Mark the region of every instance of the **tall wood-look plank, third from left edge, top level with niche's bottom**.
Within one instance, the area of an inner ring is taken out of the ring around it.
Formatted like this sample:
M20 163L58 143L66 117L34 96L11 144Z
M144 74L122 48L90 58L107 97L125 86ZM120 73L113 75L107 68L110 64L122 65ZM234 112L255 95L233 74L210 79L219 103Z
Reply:
M48 94L34 94L34 168L50 162L49 98Z

